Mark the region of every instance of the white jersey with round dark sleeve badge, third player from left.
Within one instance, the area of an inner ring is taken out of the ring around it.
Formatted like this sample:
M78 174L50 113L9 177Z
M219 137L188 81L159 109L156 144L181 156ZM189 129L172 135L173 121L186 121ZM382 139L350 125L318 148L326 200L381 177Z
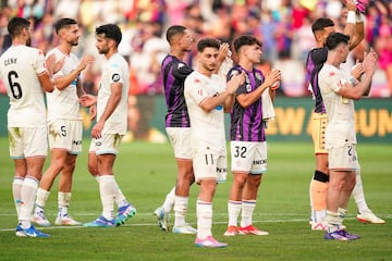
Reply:
M102 67L100 78L97 120L102 115L111 95L111 85L122 84L121 100L113 113L106 121L102 133L125 135L127 129L127 98L130 88L130 69L125 59L119 53L114 53Z

